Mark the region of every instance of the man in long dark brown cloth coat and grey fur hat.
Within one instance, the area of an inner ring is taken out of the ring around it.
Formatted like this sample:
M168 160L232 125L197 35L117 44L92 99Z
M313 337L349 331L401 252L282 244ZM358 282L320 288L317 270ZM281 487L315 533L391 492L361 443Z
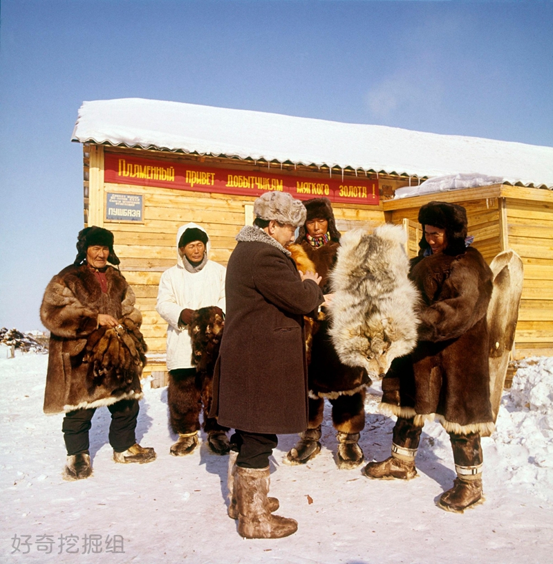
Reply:
M227 266L227 318L214 373L212 415L236 429L229 460L229 516L245 538L280 538L297 530L272 515L269 457L277 433L307 427L303 316L325 300L315 273L299 273L285 246L306 208L285 192L254 202L256 219L236 236Z

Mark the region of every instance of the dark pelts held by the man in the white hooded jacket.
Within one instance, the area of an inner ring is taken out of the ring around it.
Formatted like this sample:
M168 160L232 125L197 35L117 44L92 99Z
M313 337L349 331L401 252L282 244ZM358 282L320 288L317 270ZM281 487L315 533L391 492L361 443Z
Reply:
M214 307L202 307L192 314L188 334L192 341L192 364L196 372L213 374L224 325L223 318Z

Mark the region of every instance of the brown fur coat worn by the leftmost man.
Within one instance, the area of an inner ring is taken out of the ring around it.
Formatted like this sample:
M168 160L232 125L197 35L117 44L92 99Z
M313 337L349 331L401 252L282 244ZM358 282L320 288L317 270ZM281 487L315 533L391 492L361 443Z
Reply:
M120 399L140 399L142 367L133 366L123 377L97 375L84 361L85 347L98 329L98 313L140 326L135 295L122 274L108 266L107 293L94 272L83 264L67 266L55 275L44 293L40 318L50 331L44 412L68 412L107 406Z

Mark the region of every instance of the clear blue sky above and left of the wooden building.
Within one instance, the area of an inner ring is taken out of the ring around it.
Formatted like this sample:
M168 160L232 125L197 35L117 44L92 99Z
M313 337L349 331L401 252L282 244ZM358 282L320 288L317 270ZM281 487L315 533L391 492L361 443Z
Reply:
M156 98L553 146L552 1L2 0L0 327L75 257L83 100Z

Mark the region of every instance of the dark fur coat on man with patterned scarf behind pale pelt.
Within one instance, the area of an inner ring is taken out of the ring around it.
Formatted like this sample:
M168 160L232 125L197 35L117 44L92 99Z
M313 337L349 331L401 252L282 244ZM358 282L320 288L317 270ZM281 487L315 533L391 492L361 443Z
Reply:
M330 291L328 274L336 262L340 244L330 241L318 248L312 247L306 239L301 241L301 248L315 264L315 269L322 277L320 286L324 293ZM308 367L309 395L313 399L328 397L335 399L342 394L354 394L371 383L366 370L362 367L350 367L341 363L328 334L328 317L315 321Z

